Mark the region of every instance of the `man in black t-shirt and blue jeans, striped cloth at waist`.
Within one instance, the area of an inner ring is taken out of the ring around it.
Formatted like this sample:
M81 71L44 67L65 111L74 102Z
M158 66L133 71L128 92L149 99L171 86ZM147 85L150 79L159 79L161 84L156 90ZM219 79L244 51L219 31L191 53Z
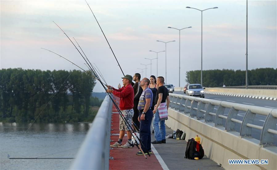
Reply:
M164 77L157 77L157 85L159 88L155 98L155 108L153 110L153 127L156 140L151 142L153 144L165 143L165 120L167 120L167 110L170 100L168 89L164 86L164 81Z

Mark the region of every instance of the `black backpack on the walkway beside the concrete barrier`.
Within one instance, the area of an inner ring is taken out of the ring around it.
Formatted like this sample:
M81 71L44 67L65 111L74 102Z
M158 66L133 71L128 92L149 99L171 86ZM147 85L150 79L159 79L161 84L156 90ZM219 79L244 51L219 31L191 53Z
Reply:
M194 160L194 158L202 159L204 157L204 149L201 144L196 142L193 138L188 140L185 149L185 158Z

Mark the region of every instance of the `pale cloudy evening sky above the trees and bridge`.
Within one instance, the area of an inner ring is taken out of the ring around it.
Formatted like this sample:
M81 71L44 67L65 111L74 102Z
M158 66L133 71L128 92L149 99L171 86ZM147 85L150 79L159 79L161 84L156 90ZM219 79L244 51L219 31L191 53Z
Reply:
M246 69L246 1L88 1L124 72L141 73L152 51L166 49L166 83L181 86L186 71ZM0 69L79 69L49 49L87 69L84 60L59 29L77 40L109 85L122 85L123 74L85 1L0 1ZM59 25L57 27L55 21ZM276 1L248 1L248 69L276 68ZM145 77L145 70L142 77ZM146 77L157 77L157 60ZM158 76L165 77L165 52L158 53ZM104 92L97 82L94 92Z

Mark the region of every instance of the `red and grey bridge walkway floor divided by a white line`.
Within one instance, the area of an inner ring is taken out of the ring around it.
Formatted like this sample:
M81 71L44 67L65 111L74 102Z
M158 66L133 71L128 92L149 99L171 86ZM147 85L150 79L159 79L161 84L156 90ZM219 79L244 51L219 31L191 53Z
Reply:
M112 131L111 131L111 144L118 140L119 135L119 114L113 106L112 108ZM173 133L169 127L166 127L166 133ZM154 135L151 135L152 141L155 140ZM123 143L127 141L127 136L124 136ZM188 160L185 159L185 140L166 139L165 144L152 145L151 156L147 159L143 155L136 155L139 150L134 148L113 148L110 150L110 156L114 160L109 161L109 169L215 169L222 170L214 161L204 156L201 160ZM154 153L154 150L157 153ZM205 151L205 148L204 148ZM159 160L158 160L158 159ZM160 161L160 162L159 162Z

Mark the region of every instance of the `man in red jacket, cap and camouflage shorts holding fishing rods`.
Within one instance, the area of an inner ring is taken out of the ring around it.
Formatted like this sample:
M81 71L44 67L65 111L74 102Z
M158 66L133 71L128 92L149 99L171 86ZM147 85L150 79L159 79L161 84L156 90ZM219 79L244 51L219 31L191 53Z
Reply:
M126 76L124 76L122 78L123 78L123 80L122 80L123 87L122 88L115 89L112 86L108 86L110 89L107 89L107 92L112 93L113 95L115 95L117 97L120 97L120 101L119 101L120 111L121 111L122 115L124 116L124 118L126 119L126 121L128 122L128 124L131 125L132 117L134 115L134 110L133 110L134 90L131 85L133 77L127 74ZM128 124L126 124L123 121L123 119L121 118L121 116L119 116L119 139L116 143L111 145L111 147L132 148L132 145L133 145L132 133L129 131L129 129L131 129L131 127ZM127 131L128 141L126 142L126 144L122 145L122 139L125 135L125 131Z

